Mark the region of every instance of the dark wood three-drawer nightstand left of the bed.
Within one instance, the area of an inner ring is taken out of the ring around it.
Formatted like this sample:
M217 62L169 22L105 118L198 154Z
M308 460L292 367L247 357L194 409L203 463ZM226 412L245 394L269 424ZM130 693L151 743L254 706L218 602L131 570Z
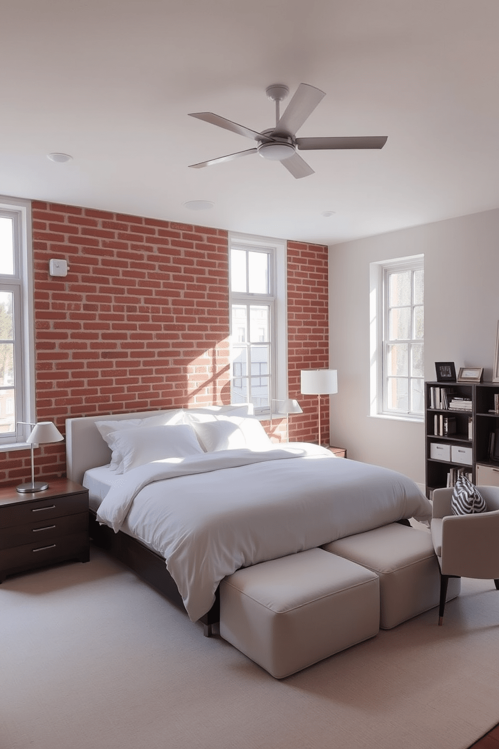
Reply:
M87 489L67 479L30 494L0 489L0 583L9 574L73 559L90 559Z

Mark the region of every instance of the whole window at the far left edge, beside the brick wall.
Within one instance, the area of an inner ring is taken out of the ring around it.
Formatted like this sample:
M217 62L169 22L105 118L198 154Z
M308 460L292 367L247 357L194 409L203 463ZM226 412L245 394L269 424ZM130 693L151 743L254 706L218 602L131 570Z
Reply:
M0 197L0 448L33 421L32 298L31 207Z

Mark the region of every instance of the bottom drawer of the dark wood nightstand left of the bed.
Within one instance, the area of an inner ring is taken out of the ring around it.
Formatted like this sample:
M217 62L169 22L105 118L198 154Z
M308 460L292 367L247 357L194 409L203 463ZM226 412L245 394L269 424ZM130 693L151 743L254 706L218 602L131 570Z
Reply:
M40 539L24 546L0 549L0 567L4 574L13 574L50 562L76 558L83 561L84 557L88 560L88 549L88 533L73 533L52 541Z

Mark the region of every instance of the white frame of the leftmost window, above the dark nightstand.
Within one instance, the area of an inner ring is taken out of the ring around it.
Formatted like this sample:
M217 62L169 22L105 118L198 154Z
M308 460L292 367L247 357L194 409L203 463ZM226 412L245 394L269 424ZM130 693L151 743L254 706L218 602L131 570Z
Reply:
M13 292L16 429L0 433L0 452L25 447L34 422L34 305L31 201L0 195L0 215L13 219L13 275L0 275L0 290Z

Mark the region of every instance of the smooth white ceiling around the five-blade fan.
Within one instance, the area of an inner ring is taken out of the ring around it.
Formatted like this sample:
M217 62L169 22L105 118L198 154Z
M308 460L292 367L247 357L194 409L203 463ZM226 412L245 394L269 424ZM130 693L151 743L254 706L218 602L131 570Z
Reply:
M4 1L0 194L328 244L496 208L498 32L498 0ZM299 136L385 147L188 168L254 147L188 112L264 130L300 82Z

